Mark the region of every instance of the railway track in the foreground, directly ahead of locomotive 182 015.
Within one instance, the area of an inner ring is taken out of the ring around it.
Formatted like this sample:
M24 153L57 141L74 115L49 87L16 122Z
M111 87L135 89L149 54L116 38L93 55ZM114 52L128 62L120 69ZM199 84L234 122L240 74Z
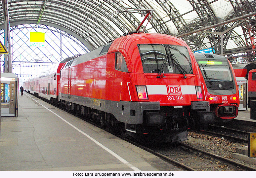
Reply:
M161 153L162 151L156 151L157 148L149 148L148 146L138 145L137 143L133 144L158 156L162 160L166 160L172 164L176 164L178 167L182 167L184 170L256 171L256 168L254 167L194 148L185 143L174 145L169 153Z

